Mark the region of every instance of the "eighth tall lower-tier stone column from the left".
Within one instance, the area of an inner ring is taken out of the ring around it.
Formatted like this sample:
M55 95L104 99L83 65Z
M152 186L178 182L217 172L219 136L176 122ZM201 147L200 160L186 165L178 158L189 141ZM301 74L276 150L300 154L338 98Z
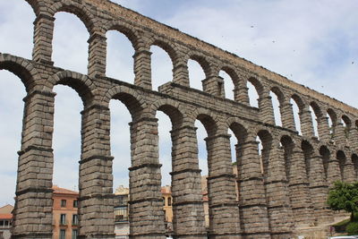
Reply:
M288 188L294 213L294 224L295 226L311 226L314 223L314 218L312 218L310 184L307 179L303 151L294 146L290 151L291 166L288 175Z

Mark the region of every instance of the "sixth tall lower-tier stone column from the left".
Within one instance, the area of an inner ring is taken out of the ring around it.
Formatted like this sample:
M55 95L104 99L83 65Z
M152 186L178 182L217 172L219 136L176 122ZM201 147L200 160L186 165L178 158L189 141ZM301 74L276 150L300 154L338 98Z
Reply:
M244 238L271 238L258 142L246 141L237 144L236 155L243 236Z

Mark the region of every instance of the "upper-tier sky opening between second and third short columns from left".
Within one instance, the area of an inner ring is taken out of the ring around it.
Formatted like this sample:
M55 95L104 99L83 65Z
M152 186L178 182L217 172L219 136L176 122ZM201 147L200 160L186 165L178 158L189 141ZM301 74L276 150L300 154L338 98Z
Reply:
M107 77L128 83L134 82L132 42L119 30L108 30L107 34Z

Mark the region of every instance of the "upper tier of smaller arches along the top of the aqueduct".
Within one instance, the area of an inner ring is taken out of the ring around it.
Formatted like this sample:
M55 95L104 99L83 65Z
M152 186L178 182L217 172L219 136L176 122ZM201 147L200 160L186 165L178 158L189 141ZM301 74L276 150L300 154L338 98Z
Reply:
M300 128L304 138L315 138L320 141L357 148L357 143L354 142L358 134L358 112L356 109L288 81L275 73L244 61L240 57L108 1L101 5L98 5L98 1L90 0L80 2L73 0L26 1L36 14L33 48L33 60L36 62L52 63L55 13L66 12L76 15L88 30L90 34L88 39L88 78L81 77L81 81L85 81L87 85L79 90L80 96L86 98L84 104L90 104L90 101L87 100L89 97L85 96L90 96L89 92L95 90L95 85L90 82L91 79L106 77L106 34L109 30L116 30L124 34L132 43L135 52L133 55L133 72L135 74L133 83L136 86L152 90L150 47L157 46L162 48L172 61L172 83L189 88L190 81L203 80L202 91L204 93L221 98L220 100L223 102L231 102L228 104L234 104L232 100L226 98L228 92L225 92L224 89L224 79L219 76L220 71L224 71L231 78L225 79L225 81L233 82L234 101L248 110L251 109L248 82L254 86L259 97L258 109L256 109L258 113L252 109L254 112L252 115L258 115L255 120L278 127L275 124L275 106L272 105L270 97L272 91L276 94L279 102L279 114L282 121L280 127L294 132ZM116 11L110 11L110 8ZM189 60L200 64L206 79L189 79ZM12 70L11 67L13 67L12 64L6 64L3 61L2 68ZM24 69L13 72L22 76L29 71ZM33 75L38 74L33 73ZM54 77L47 79L44 88L47 87L46 84L54 85L55 81L61 81L64 84L71 81L73 88L78 87L71 78L61 77L64 80ZM28 78L21 77L21 79ZM25 84L28 91L33 88L30 81L27 80ZM51 86L49 87L51 88ZM167 93L165 89L162 88L159 91ZM299 112L294 112L292 101L297 104ZM294 116L295 114L296 116ZM299 126L297 126L298 123ZM315 125L317 126L315 127Z

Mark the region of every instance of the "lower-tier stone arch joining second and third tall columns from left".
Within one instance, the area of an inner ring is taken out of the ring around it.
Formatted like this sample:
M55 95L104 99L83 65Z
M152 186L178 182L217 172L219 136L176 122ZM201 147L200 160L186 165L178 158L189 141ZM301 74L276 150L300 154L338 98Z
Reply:
M101 104L107 107L111 99L118 99L123 102L133 120L141 115L144 108L147 108L146 100L140 94L124 86L115 86L107 90L105 96L101 99Z

